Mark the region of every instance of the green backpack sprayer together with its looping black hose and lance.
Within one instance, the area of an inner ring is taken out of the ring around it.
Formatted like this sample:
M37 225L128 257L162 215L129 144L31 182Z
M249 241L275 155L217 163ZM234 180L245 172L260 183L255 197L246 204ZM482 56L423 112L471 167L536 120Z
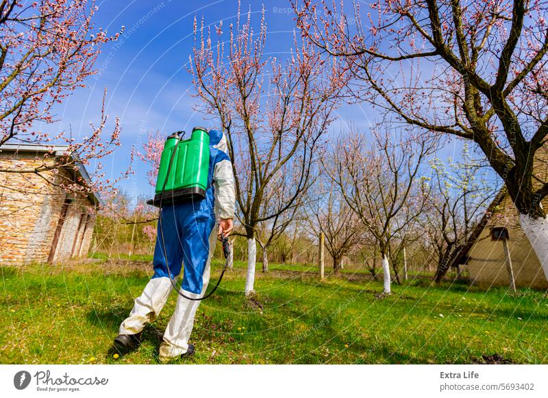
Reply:
M147 200L147 204L158 207L158 222L160 236L162 237L162 250L166 258L166 268L169 274L169 280L173 288L179 295L187 300L199 301L210 297L219 287L229 261L228 238L221 233L223 243L223 255L225 256L225 265L221 276L210 293L203 297L188 297L177 289L175 280L171 278L167 250L164 241L164 230L162 228L162 208L164 204L177 204L189 202L192 200L202 200L206 197L208 189L208 170L210 161L210 137L208 131L202 127L192 129L192 135L189 140L183 140L184 131L177 131L169 135L162 150L160 158L160 168L158 170L158 180L156 181L155 196ZM175 172L170 174L173 162L175 161Z

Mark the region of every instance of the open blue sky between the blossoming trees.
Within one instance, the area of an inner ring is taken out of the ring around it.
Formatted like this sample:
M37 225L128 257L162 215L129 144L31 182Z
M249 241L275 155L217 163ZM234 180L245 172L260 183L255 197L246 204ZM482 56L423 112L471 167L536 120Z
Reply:
M293 44L293 20L289 0L242 1L242 12L256 13L264 4L268 36L266 54L286 57ZM77 90L56 110L60 122L40 129L52 132L68 131L73 135L87 135L89 123L97 122L103 89L110 124L105 133L112 131L115 116L121 120L123 146L116 155L105 161L105 171L112 177L119 175L129 163L132 146L140 148L149 131L169 133L189 131L195 125L214 127L212 122L196 114L192 105L191 77L185 64L192 50L192 21L196 15L206 25L223 20L225 27L236 21L237 0L216 1L97 1L95 22L109 34L125 26L118 42L103 47L97 63L97 75L86 81L87 87ZM367 105L344 105L338 112L339 120L331 127L338 133L349 120L360 129L368 129L375 112ZM129 196L151 196L153 188L147 183L147 165L136 161L136 174L121 182Z

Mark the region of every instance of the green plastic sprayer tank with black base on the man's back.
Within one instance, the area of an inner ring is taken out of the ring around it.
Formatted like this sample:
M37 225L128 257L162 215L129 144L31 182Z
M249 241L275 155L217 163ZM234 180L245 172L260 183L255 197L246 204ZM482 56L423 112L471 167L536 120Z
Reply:
M205 198L209 165L210 136L206 129L195 127L189 140L180 140L178 133L169 135L160 159L154 199L148 203L156 207L161 203L163 207Z

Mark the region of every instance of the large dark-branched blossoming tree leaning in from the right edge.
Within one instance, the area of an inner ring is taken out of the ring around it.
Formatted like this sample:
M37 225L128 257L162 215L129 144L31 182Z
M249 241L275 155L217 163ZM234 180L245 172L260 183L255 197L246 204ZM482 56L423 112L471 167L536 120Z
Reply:
M423 131L471 140L510 194L548 276L548 3L294 1L303 36L353 73L354 94Z

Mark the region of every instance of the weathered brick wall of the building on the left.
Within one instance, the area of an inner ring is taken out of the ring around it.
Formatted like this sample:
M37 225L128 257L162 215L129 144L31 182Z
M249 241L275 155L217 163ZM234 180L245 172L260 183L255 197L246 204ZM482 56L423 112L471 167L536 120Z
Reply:
M30 169L41 164L41 156L36 159L29 153L0 152L0 168L20 165ZM48 260L65 196L63 189L53 187L36 174L0 173L0 265ZM80 196L69 206L54 262L68 259L75 239L82 241L84 228L77 231L79 214L91 205L88 198ZM88 229L92 230L94 221ZM88 235L87 229L85 232ZM75 247L75 254L87 254L90 239L87 243L85 239Z

